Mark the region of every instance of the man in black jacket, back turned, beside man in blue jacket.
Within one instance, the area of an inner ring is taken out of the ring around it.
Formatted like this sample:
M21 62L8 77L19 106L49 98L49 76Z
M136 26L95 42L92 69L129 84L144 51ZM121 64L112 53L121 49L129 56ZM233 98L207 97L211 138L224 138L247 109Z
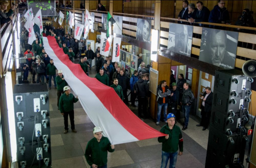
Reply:
M138 112L139 112L139 117L141 116L142 113L142 108L143 107L143 115L144 118L147 118L147 94L148 94L148 85L146 81L146 75L142 74L141 79L139 79L138 82L134 84L134 93L137 93L138 95Z

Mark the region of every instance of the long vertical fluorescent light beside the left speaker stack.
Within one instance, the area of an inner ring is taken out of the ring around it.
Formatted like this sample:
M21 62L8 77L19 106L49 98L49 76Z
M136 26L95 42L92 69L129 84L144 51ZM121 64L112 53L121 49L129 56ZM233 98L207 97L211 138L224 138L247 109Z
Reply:
M7 109L8 109L11 158L12 158L12 162L16 162L17 161L17 144L16 144L16 130L15 130L16 125L15 125L15 116L14 116L14 102L13 102L11 72L6 72L6 75L5 75L5 91L6 91L6 102L7 102Z

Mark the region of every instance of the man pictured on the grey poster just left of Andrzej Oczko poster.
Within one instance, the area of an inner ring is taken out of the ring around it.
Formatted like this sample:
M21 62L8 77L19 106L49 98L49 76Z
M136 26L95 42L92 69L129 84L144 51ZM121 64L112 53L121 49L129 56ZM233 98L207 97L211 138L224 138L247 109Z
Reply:
M173 24L176 26L175 29L175 45L170 47L168 50L170 52L176 52L182 55L190 56L191 49L188 47L188 30L187 26L182 24Z

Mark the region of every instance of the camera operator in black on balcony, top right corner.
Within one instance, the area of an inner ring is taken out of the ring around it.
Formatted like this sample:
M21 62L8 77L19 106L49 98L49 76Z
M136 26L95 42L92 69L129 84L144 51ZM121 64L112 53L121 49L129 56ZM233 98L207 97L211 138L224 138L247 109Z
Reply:
M244 9L242 12L242 15L240 17L238 17L238 21L235 23L235 25L246 26L246 27L256 27L252 14L253 14L253 11L250 11L249 9ZM254 34L253 30L240 29L240 28L235 28L234 30L243 32L243 33Z

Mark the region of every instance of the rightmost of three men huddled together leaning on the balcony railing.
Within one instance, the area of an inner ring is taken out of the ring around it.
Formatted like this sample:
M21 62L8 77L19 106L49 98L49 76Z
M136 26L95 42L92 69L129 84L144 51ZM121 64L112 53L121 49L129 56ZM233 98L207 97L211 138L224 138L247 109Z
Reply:
M190 23L193 22L208 22L209 20L209 15L210 15L210 11L207 7L203 6L203 2L198 1L197 2L197 14L195 18L190 18L188 21ZM199 26L201 26L201 24L199 24Z

